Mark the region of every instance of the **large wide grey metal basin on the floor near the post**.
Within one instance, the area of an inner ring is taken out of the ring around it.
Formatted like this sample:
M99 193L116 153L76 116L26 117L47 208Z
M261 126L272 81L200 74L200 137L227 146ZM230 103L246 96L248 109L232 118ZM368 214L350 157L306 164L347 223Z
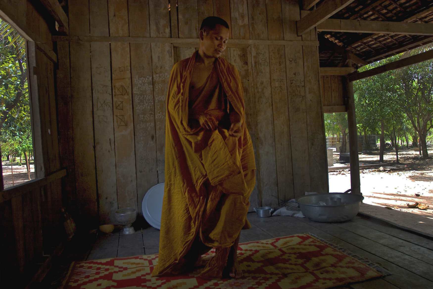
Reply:
M340 200L336 198L341 199L341 204L337 204ZM308 219L321 223L335 223L355 217L362 200L364 197L358 194L329 193L302 196L297 199L297 203Z

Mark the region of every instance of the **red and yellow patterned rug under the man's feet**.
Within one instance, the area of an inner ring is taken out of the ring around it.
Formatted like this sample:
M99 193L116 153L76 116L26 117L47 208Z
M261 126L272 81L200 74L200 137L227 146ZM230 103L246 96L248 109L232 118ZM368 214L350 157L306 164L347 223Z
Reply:
M238 256L242 279L204 280L196 277L200 269L187 276L154 278L150 276L158 262L154 254L74 263L64 288L323 289L389 274L310 234L242 243Z

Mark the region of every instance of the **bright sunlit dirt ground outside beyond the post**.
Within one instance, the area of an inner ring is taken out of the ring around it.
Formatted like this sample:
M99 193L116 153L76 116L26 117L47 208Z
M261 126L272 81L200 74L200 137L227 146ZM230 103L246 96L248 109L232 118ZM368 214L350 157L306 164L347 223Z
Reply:
M387 164L383 165L382 170L380 168L361 169L361 192L365 198L364 204L382 207L384 213L386 210L385 215L398 215L394 223L405 227L414 227L416 219L417 227L425 228L421 231L433 234L433 148L430 147L428 152L431 155L430 159L421 160L419 152L413 149L401 150L397 164L395 151L386 151L384 161ZM333 157L334 163L338 163L339 154L334 152ZM379 152L360 153L359 161L378 163ZM336 164L335 167L339 165L342 164ZM350 188L350 170L330 171L329 183L331 192L347 190ZM427 210L407 207L407 204L415 202L430 207ZM393 214L392 210L406 214ZM378 212L381 213L381 211ZM410 220L411 217L414 219Z

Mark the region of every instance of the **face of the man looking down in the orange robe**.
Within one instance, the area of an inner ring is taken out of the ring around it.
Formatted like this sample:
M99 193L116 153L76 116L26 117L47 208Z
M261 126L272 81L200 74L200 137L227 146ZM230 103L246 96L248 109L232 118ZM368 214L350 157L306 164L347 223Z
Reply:
M204 33L200 30L200 49L202 49L205 56L217 58L223 54L229 40L229 30L217 24L215 29Z

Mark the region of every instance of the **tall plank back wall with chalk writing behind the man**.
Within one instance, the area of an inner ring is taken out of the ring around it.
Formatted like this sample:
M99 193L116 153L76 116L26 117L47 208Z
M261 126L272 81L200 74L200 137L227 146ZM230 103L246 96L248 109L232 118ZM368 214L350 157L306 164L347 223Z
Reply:
M315 30L297 36L297 0L179 0L171 10L157 0L88 3L70 6L71 35L196 38L201 21L215 15L230 24L235 39L317 39ZM78 207L85 217L112 222L110 212L126 206L141 213L145 192L164 181L168 76L173 63L196 49L162 43L70 43L75 177ZM305 191L326 192L317 46L252 45L226 49L224 57L238 68L244 86L258 169L252 207L277 206ZM85 105L78 109L78 103Z

